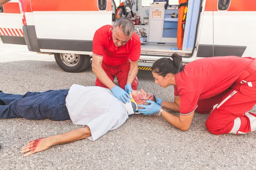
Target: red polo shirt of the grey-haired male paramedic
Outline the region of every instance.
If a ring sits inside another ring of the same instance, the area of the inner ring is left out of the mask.
[[[95,32],[93,54],[103,57],[103,62],[106,65],[114,67],[122,65],[128,59],[131,62],[137,62],[140,59],[140,37],[134,32],[131,39],[118,48],[113,43],[111,28],[111,25],[106,25]]]

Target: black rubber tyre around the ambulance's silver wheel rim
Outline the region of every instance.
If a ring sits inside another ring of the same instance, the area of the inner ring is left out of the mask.
[[[81,55],[80,54],[80,57],[81,58],[79,59],[79,62],[77,63],[77,65],[70,67],[70,66],[65,65],[61,61],[61,57],[60,57],[59,53],[54,53],[54,58],[58,64],[58,66],[62,70],[70,72],[70,73],[78,73],[78,72],[84,71],[90,65],[91,57],[89,55]]]

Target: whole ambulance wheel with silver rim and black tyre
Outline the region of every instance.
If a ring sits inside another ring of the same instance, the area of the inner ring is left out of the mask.
[[[54,53],[58,66],[67,72],[78,73],[90,65],[91,57],[82,54]]]

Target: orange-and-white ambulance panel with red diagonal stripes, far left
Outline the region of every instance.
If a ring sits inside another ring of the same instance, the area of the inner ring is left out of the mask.
[[[6,44],[26,45],[18,0],[0,6],[0,38]]]

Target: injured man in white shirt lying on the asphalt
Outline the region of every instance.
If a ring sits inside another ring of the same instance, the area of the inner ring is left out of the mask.
[[[85,125],[67,133],[35,139],[21,149],[24,156],[80,139],[95,141],[109,130],[120,127],[129,115],[136,114],[137,105],[156,101],[154,95],[132,91],[130,102],[124,104],[108,88],[72,85],[66,90],[27,92],[25,95],[5,94],[0,91],[0,119],[25,118],[29,120],[71,119],[74,125]]]

